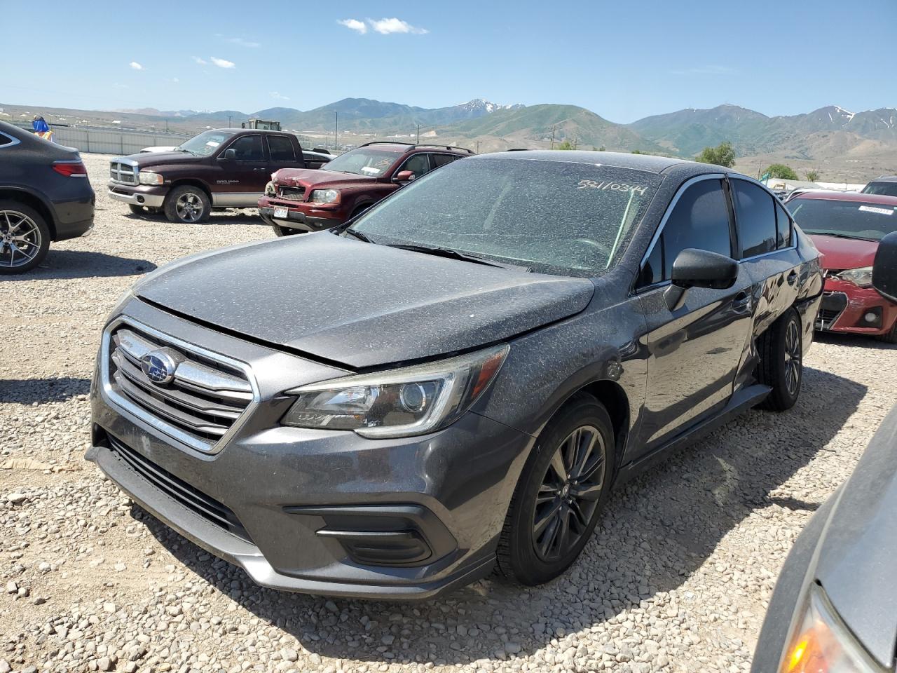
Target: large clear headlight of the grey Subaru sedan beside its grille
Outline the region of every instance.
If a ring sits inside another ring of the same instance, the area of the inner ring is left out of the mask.
[[[436,363],[348,376],[288,390],[297,396],[284,425],[353,430],[363,437],[410,437],[457,420],[489,387],[510,347],[499,345]]]

